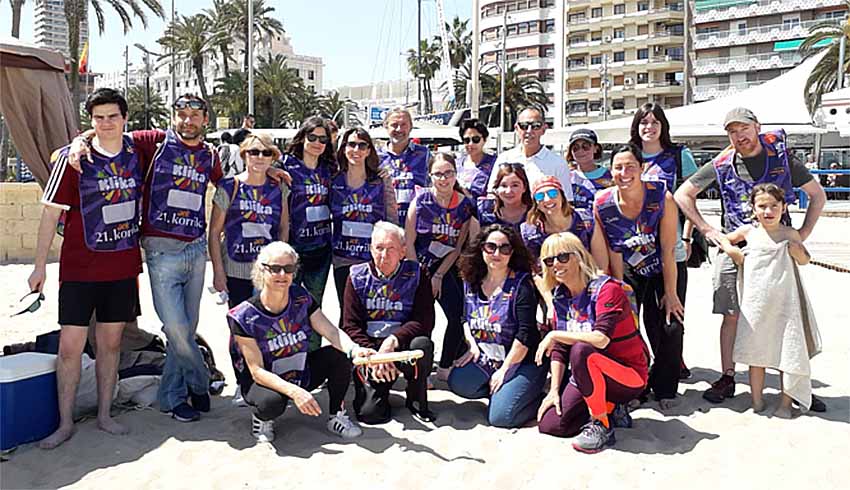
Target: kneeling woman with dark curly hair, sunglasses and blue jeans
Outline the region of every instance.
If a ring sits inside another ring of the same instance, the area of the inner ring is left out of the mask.
[[[488,420],[520,427],[534,418],[546,368],[533,362],[540,341],[531,283],[531,257],[513,228],[490,225],[464,251],[469,350],[455,361],[449,389],[464,398],[490,398]]]

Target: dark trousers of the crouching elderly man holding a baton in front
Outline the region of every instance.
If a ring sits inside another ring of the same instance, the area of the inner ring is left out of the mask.
[[[434,363],[434,342],[428,337],[416,337],[409,347],[400,346],[398,350],[422,350],[425,355],[420,357],[415,366],[397,362],[395,366],[407,380],[407,404],[418,402],[419,411],[428,411],[428,373]],[[397,381],[397,380],[396,380]],[[357,420],[364,424],[382,424],[392,416],[390,409],[390,389],[393,382],[379,382],[366,379],[365,383],[357,373],[354,373],[354,413]]]

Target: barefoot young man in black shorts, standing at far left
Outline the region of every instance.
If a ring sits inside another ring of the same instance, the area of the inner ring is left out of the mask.
[[[65,240],[59,256],[59,355],[56,360],[59,428],[41,441],[52,449],[71,437],[74,398],[80,381],[80,357],[92,314],[97,335],[97,424],[112,434],[127,429],[110,417],[121,333],[136,319],[139,251],[139,207],[144,168],[132,140],[122,129],[127,102],[120,92],[98,89],[86,100],[95,136],[81,173],[68,170],[68,149],[56,150],[44,189],[44,211],[38,231],[31,291],[41,291],[56,225],[65,212]]]

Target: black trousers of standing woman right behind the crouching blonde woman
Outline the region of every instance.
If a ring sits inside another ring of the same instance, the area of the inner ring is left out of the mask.
[[[681,279],[683,274],[687,275],[687,267],[684,262],[679,262],[676,269],[676,294],[684,305],[687,279]],[[631,267],[627,267],[625,279],[635,291],[638,308],[643,313],[643,327],[655,356],[649,371],[649,387],[657,400],[676,398],[682,367],[684,326],[675,317],[670,318],[670,323],[665,318],[661,303],[664,297],[664,275],[639,276]]]

